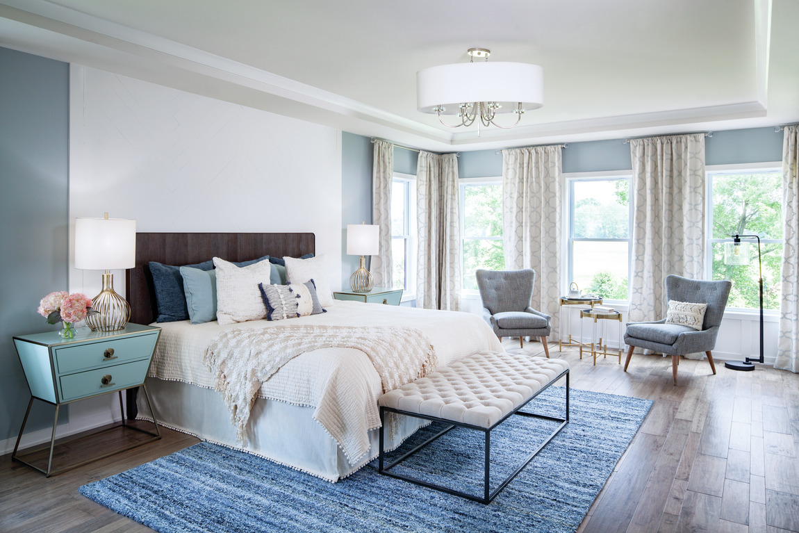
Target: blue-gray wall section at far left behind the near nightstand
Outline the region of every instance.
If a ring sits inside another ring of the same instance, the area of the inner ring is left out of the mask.
[[[70,70],[0,48],[0,73],[0,440],[6,440],[17,436],[30,400],[11,337],[54,329],[36,308],[48,292],[67,288]],[[35,402],[26,432],[49,427],[53,412]]]

